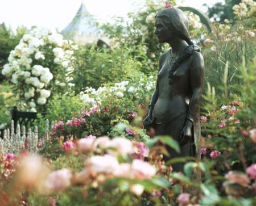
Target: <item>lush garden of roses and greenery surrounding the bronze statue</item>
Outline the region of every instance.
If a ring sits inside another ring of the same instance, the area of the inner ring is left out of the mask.
[[[170,157],[179,142],[143,127],[168,49],[155,15],[172,6],[147,0],[98,24],[110,47],[0,27],[0,205],[256,205],[256,2],[212,22],[180,7],[205,62],[200,159]],[[14,124],[14,106],[37,119]]]

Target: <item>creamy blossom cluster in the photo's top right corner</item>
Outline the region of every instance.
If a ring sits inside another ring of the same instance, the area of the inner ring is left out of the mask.
[[[240,16],[250,16],[256,10],[256,2],[253,0],[242,0],[238,5],[233,6],[234,14]]]

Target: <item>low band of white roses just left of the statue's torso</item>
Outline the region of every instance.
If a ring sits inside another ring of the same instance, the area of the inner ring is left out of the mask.
[[[87,87],[85,91],[81,91],[80,98],[84,102],[85,106],[94,103],[100,103],[106,98],[133,98],[144,99],[146,93],[152,92],[155,87],[155,79],[153,76],[139,78],[139,81],[122,81],[114,83],[113,86],[102,86],[98,89]]]

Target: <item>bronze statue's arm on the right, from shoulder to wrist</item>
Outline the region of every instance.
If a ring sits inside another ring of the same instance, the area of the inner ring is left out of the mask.
[[[198,121],[200,116],[200,99],[204,84],[204,58],[199,53],[193,53],[189,68],[192,97],[189,102],[187,119]]]

